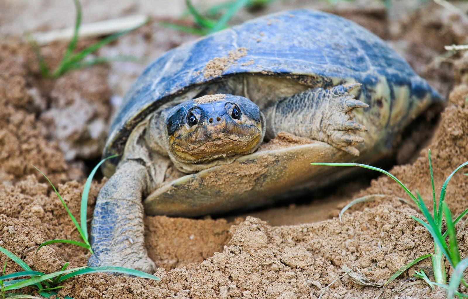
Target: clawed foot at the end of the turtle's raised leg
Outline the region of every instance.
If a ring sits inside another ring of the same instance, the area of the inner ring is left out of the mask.
[[[354,120],[352,110],[369,107],[366,103],[354,99],[349,92],[360,87],[360,84],[338,85],[329,91],[329,101],[323,111],[321,137],[336,148],[342,149],[353,156],[359,156],[356,145],[364,142],[357,132],[367,131],[364,125]],[[321,139],[322,139],[321,138]]]

